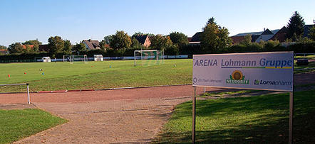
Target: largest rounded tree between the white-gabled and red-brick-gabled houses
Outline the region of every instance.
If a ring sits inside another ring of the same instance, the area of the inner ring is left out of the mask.
[[[125,48],[130,48],[131,38],[124,31],[117,31],[115,35],[112,35],[110,40],[110,48],[115,50],[123,50]]]

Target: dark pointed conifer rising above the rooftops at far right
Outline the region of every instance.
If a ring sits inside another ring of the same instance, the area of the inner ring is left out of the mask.
[[[293,16],[289,19],[289,23],[286,26],[288,29],[288,33],[286,33],[287,38],[291,38],[292,40],[296,41],[304,32],[304,18],[295,11]],[[295,34],[294,34],[295,33]]]

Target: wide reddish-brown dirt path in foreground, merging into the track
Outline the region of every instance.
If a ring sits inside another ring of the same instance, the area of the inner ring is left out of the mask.
[[[38,108],[69,122],[16,143],[149,143],[174,106],[192,99],[192,94],[192,86],[32,94]],[[20,96],[25,94],[1,99],[16,103]]]

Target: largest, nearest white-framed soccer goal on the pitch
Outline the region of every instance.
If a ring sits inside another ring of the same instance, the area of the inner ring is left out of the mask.
[[[135,50],[135,66],[160,65],[164,63],[164,52],[160,50]]]

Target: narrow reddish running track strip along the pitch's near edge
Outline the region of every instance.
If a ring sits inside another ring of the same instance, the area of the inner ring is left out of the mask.
[[[68,92],[68,93],[32,93],[31,102],[63,103],[63,102],[87,102],[87,101],[108,101],[120,99],[150,99],[167,98],[176,96],[192,96],[194,94],[191,85],[150,87],[139,89],[113,89],[91,92]],[[207,88],[209,90],[222,90]],[[203,87],[197,87],[197,93],[202,94]],[[21,104],[27,103],[26,94],[0,94],[0,104]]]

